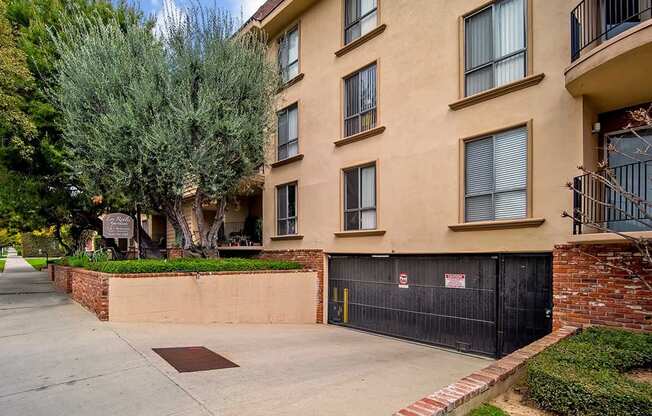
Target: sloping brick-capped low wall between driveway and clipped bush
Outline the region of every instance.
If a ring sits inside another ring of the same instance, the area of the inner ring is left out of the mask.
[[[577,333],[564,327],[515,351],[396,412],[394,416],[465,415],[509,389],[525,373],[527,361],[546,348]]]

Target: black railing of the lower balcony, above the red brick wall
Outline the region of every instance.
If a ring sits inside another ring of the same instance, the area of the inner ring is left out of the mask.
[[[652,161],[608,169],[573,180],[573,234],[652,230]]]

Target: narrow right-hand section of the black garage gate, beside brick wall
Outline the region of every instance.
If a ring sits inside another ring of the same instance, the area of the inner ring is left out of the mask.
[[[510,254],[500,263],[498,343],[506,355],[552,330],[552,257]]]

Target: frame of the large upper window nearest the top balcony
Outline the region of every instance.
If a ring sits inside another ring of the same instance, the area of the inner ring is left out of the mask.
[[[506,1],[506,0],[495,0],[494,2],[487,5],[486,7],[483,7],[480,10],[476,10],[475,12],[464,16],[464,97],[470,97],[470,95],[468,93],[468,85],[467,85],[467,82],[466,82],[467,77],[470,74],[473,74],[475,72],[479,72],[479,71],[482,71],[484,69],[487,69],[487,68],[491,67],[491,74],[492,74],[491,87],[489,87],[489,88],[487,88],[486,90],[483,90],[483,91],[475,92],[472,95],[481,94],[484,91],[488,91],[488,90],[490,90],[492,88],[496,88],[496,82],[495,82],[496,81],[495,80],[496,65],[501,63],[501,62],[507,61],[507,60],[517,56],[517,55],[521,55],[521,54],[523,55],[523,77],[526,77],[527,74],[528,74],[528,67],[529,67],[529,65],[528,65],[528,54],[529,54],[529,46],[530,46],[529,45],[529,36],[528,36],[528,27],[530,25],[529,16],[528,16],[528,13],[529,13],[529,11],[528,11],[529,0],[523,0],[523,22],[524,22],[524,25],[523,25],[523,40],[524,40],[524,42],[523,42],[523,44],[525,46],[522,49],[519,49],[518,51],[511,52],[511,53],[509,53],[507,55],[501,56],[500,58],[496,58],[496,56],[495,56],[494,39],[495,39],[495,31],[496,31],[496,27],[497,27],[497,22],[496,22],[496,13],[495,13],[494,9],[496,7],[496,4],[501,3],[503,1]],[[467,47],[468,47],[469,42],[468,42],[468,38],[467,38],[467,33],[468,32],[466,30],[466,27],[467,27],[466,25],[467,25],[467,22],[468,22],[468,20],[470,18],[472,18],[474,16],[477,16],[480,13],[486,12],[489,9],[491,9],[491,20],[492,20],[491,36],[490,36],[491,48],[492,48],[492,59],[491,59],[490,62],[481,64],[481,65],[478,65],[478,66],[476,66],[474,68],[469,69],[468,68],[468,59],[467,59]]]

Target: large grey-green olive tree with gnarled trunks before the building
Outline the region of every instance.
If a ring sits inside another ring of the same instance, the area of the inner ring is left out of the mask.
[[[165,213],[183,248],[216,253],[227,199],[263,165],[278,87],[265,39],[193,8],[153,32],[88,19],[56,33],[52,93],[88,189]],[[193,190],[193,238],[184,197]],[[202,207],[218,207],[206,221]]]

